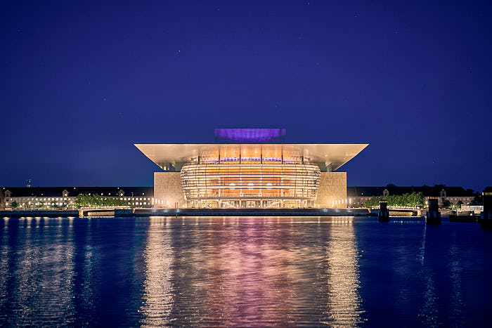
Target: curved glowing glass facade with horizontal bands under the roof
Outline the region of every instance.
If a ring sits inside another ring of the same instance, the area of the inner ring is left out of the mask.
[[[188,201],[313,201],[319,179],[320,169],[311,164],[190,164],[181,169],[181,181]]]

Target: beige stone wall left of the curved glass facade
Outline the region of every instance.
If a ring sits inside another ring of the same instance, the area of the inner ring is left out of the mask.
[[[154,199],[164,201],[164,204],[154,203],[154,207],[174,209],[176,202],[179,203],[179,207],[186,206],[179,174],[179,172],[154,172]]]

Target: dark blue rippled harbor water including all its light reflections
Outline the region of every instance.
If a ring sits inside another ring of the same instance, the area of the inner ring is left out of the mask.
[[[0,326],[486,327],[492,232],[422,218],[0,218]]]

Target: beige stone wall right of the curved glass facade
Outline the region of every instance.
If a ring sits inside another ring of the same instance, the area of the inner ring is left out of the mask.
[[[332,205],[338,199],[347,199],[347,172],[321,172],[315,206],[347,207],[347,203]]]

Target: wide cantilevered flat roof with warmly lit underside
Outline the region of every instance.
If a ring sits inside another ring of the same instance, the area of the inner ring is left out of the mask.
[[[301,156],[309,157],[311,162],[331,164],[332,170],[336,170],[349,162],[368,145],[368,143],[136,143],[135,147],[161,168],[169,164],[174,166],[176,163],[189,162],[193,157],[210,155],[214,152],[219,153],[219,150],[224,152],[235,148],[242,152],[242,150],[250,150],[251,147],[258,149],[263,147],[263,149],[274,152],[295,152]]]

